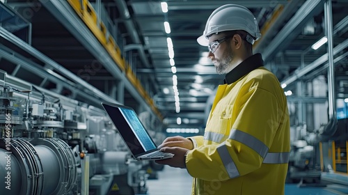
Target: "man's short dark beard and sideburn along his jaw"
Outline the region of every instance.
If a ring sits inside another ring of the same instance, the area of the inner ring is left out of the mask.
[[[231,64],[235,54],[233,54],[232,48],[230,45],[226,47],[226,50],[223,52],[221,59],[215,59],[216,64],[216,73],[219,75],[226,75],[232,70]]]

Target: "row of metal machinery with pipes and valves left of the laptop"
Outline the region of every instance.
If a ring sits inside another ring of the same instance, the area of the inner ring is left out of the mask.
[[[104,110],[0,78],[0,194],[146,194]]]

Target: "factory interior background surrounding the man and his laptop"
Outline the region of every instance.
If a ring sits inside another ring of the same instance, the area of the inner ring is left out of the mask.
[[[0,0],[0,194],[191,193],[156,192],[189,176],[132,159],[100,103],[132,107],[157,145],[202,135],[224,77],[196,39],[227,3],[255,15],[287,95],[285,194],[348,194],[347,0]]]

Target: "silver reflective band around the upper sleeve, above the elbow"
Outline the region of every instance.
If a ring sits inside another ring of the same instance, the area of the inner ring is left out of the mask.
[[[249,148],[255,150],[255,152],[258,153],[262,158],[267,155],[269,149],[264,143],[262,143],[262,141],[256,139],[251,134],[247,134],[246,132],[239,130],[231,130],[228,139],[233,139],[243,143]]]

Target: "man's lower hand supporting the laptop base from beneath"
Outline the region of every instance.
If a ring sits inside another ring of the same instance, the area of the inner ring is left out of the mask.
[[[164,147],[161,148],[161,151],[164,153],[172,153],[174,156],[170,159],[161,159],[156,160],[158,164],[168,164],[169,166],[185,168],[184,155],[189,151],[186,148],[180,147]]]

